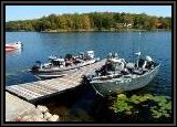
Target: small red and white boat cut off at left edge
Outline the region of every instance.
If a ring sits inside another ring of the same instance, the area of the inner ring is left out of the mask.
[[[23,46],[23,44],[20,41],[14,42],[14,43],[8,43],[8,44],[6,44],[6,51],[21,49],[22,46]]]

